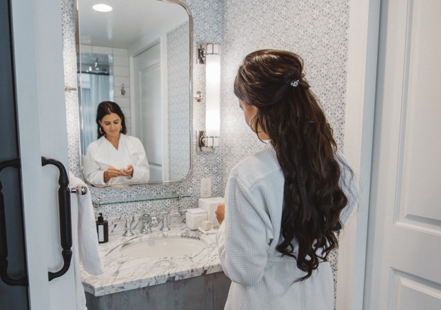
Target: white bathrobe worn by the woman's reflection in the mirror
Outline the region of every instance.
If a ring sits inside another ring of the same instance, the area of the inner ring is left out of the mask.
[[[90,143],[84,158],[84,172],[91,183],[104,185],[104,172],[109,167],[127,169],[133,166],[133,176],[110,178],[107,184],[140,183],[150,178],[150,167],[141,140],[134,136],[120,134],[116,149],[105,136]]]

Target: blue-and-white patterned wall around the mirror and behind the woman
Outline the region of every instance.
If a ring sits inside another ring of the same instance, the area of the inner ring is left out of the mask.
[[[67,7],[72,0],[63,0]],[[180,190],[192,194],[179,203],[165,201],[140,203],[134,206],[116,205],[103,210],[107,216],[128,216],[143,209],[163,207],[185,209],[195,207],[200,193],[201,178],[212,178],[213,196],[222,196],[230,169],[241,159],[263,147],[249,130],[238,101],[232,92],[234,76],[243,57],[254,50],[274,48],[296,52],[305,61],[306,79],[318,96],[334,129],[339,147],[343,147],[345,120],[345,90],[347,77],[348,0],[185,0],[194,18],[194,47],[197,42],[221,44],[221,131],[220,147],[214,153],[200,154],[193,145],[193,174],[179,185],[134,187],[132,189],[93,189],[94,195],[157,194]],[[72,21],[70,21],[72,23]],[[74,28],[71,25],[70,31]],[[70,33],[73,37],[73,34]],[[65,34],[66,36],[66,34]],[[72,46],[72,43],[67,45]],[[74,64],[74,62],[72,62]],[[203,65],[194,62],[194,91],[205,89]],[[70,167],[79,174],[77,146],[78,123],[76,98],[67,98]],[[204,104],[194,102],[194,132],[204,128]],[[334,274],[337,253],[332,254]]]

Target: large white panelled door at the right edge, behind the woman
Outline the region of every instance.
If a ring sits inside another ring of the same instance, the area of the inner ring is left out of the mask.
[[[441,1],[382,1],[364,309],[441,309]]]

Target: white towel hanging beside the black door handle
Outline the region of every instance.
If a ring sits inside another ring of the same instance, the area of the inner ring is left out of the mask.
[[[87,186],[80,178],[69,172],[70,186]],[[85,305],[85,293],[81,283],[80,264],[85,271],[93,275],[103,273],[103,262],[99,256],[98,237],[94,209],[90,192],[85,195],[71,194],[72,213],[72,252],[74,256],[74,276],[76,290],[76,310],[88,309]]]

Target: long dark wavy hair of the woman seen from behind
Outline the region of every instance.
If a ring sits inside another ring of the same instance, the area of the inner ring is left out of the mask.
[[[340,212],[348,203],[331,126],[302,70],[297,54],[258,50],[245,57],[234,81],[238,99],[258,108],[253,130],[260,125],[269,136],[285,177],[277,250],[307,273],[296,281],[309,278],[338,247]]]

